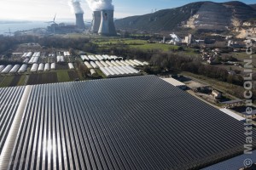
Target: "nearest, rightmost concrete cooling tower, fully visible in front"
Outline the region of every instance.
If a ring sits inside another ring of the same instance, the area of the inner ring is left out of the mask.
[[[116,36],[113,24],[113,10],[102,10],[101,24],[98,33],[102,36]]]

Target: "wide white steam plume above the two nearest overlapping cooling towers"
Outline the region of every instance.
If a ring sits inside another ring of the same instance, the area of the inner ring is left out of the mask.
[[[86,0],[92,11],[113,10],[112,0]]]

